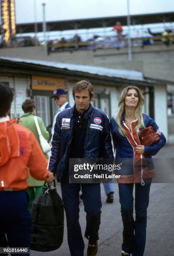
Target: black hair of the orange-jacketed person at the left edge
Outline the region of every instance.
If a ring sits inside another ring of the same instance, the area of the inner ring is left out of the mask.
[[[8,85],[0,82],[0,117],[6,116],[13,101],[13,92]]]

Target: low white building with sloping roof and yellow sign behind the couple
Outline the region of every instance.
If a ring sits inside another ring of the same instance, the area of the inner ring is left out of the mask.
[[[72,87],[82,79],[88,79],[94,85],[96,96],[92,104],[104,110],[110,118],[117,113],[123,85],[138,86],[145,97],[143,113],[154,118],[168,138],[167,89],[164,81],[146,80],[142,72],[133,70],[0,57],[0,82],[9,85],[14,92],[11,116],[20,117],[23,114],[23,101],[31,97],[36,101],[36,114],[44,120],[46,127],[51,127],[57,111],[51,99],[53,91],[58,87],[64,88],[73,106]]]

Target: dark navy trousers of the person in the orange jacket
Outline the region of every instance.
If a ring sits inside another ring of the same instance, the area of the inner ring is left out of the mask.
[[[26,192],[0,191],[0,247],[30,247],[31,225]]]

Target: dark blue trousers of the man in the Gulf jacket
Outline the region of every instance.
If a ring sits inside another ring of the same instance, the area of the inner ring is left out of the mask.
[[[68,245],[71,256],[84,255],[84,241],[79,224],[79,191],[82,187],[86,230],[84,236],[96,241],[99,239],[101,215],[100,184],[69,184],[61,182],[61,192],[67,217]]]

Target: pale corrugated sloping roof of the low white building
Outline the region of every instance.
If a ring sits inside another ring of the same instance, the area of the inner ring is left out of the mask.
[[[4,57],[0,56],[2,60],[8,60],[18,63],[26,63],[26,64],[35,64],[41,65],[44,67],[54,67],[58,69],[67,69],[71,71],[79,71],[89,74],[96,74],[106,77],[116,77],[116,78],[123,78],[135,81],[147,81],[143,77],[143,73],[136,70],[127,70],[127,69],[113,69],[107,67],[96,67],[90,65],[79,65],[79,64],[69,64],[69,63],[61,63],[55,61],[44,61],[44,60],[36,60],[36,59],[23,59],[23,58],[11,58],[11,57]]]

